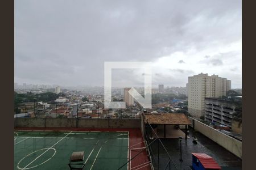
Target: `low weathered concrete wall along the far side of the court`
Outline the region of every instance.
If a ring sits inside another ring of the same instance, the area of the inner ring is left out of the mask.
[[[15,127],[76,128],[76,118],[15,118]],[[141,128],[141,119],[80,118],[78,128]]]

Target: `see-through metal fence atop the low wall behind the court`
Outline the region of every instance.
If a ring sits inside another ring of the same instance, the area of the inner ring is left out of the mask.
[[[14,109],[14,117],[39,118],[140,118],[138,114],[125,112],[125,109],[104,109],[99,106],[81,104],[24,104]]]

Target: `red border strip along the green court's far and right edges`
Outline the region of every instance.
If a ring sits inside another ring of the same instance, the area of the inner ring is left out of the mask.
[[[15,128],[15,130],[28,130],[28,131],[129,131],[129,159],[133,158],[140,151],[143,150],[145,144],[143,142],[143,137],[141,129],[133,128],[35,128],[35,127],[23,127]],[[127,165],[126,165],[127,166]],[[147,151],[143,150],[129,163],[129,169],[141,169],[147,170],[150,168],[150,159],[147,156]]]

